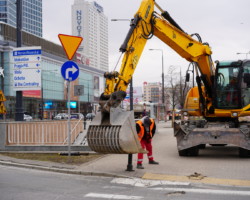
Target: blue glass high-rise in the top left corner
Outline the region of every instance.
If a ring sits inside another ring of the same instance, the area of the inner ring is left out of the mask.
[[[23,30],[42,37],[42,0],[22,1]],[[16,0],[0,0],[0,21],[16,27]]]

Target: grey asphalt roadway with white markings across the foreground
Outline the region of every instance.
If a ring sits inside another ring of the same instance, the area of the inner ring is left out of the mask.
[[[249,188],[88,177],[0,166],[0,200],[249,200]]]

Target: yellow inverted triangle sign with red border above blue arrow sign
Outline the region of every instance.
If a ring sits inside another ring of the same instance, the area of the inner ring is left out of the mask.
[[[64,35],[64,34],[59,34],[58,37],[60,39],[60,42],[64,48],[64,51],[68,59],[71,60],[75,55],[76,50],[80,46],[83,38],[72,35]]]

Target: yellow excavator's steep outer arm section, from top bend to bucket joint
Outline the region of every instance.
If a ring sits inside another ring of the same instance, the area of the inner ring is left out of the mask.
[[[110,107],[117,107],[126,96],[126,89],[139,62],[147,40],[152,37],[151,16],[154,1],[142,1],[141,6],[131,20],[129,32],[120,51],[124,53],[119,72],[106,72],[106,88],[100,97],[102,111],[109,112]],[[107,101],[108,100],[108,101]]]

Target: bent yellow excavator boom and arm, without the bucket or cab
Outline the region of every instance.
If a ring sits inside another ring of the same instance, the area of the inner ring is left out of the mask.
[[[155,6],[161,15],[155,12]],[[166,45],[176,51],[189,62],[194,62],[201,74],[208,96],[212,93],[212,78],[214,66],[210,55],[212,51],[207,44],[193,39],[164,11],[154,0],[143,0],[120,51],[124,53],[119,72],[107,72],[106,88],[100,98],[103,111],[109,112],[110,107],[117,107],[125,98],[125,91],[131,81],[133,73],[148,39],[156,36]],[[200,95],[201,95],[200,90]]]

